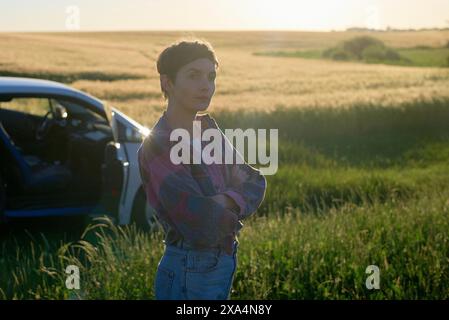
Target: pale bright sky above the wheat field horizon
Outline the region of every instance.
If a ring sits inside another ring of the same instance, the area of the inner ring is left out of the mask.
[[[0,32],[349,27],[449,27],[449,0],[0,0]]]

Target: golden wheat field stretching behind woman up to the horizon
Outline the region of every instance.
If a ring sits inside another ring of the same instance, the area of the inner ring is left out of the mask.
[[[449,69],[401,67],[288,57],[268,50],[324,49],[356,32],[102,32],[0,34],[0,73],[68,83],[151,126],[165,107],[158,53],[181,38],[209,41],[220,62],[210,111],[277,106],[392,106],[449,97]],[[438,47],[449,31],[371,34],[396,48]]]

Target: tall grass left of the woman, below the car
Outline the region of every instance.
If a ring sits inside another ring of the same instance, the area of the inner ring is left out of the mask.
[[[160,234],[136,226],[117,227],[96,219],[79,238],[57,242],[44,234],[19,246],[3,243],[0,298],[3,299],[148,299],[154,266],[162,255]],[[23,240],[22,240],[23,241]],[[80,290],[65,285],[67,266],[80,269]]]

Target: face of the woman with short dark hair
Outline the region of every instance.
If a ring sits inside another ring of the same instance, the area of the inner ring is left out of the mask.
[[[175,83],[168,88],[169,99],[178,107],[204,111],[215,92],[215,77],[215,64],[211,60],[194,60],[178,70]]]

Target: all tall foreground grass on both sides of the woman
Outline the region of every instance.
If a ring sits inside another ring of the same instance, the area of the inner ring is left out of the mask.
[[[447,299],[448,218],[447,192],[253,217],[239,237],[232,298]],[[161,240],[107,220],[53,250],[42,238],[3,256],[20,264],[12,280],[2,273],[2,298],[152,299]],[[80,290],[65,288],[68,265],[80,268]],[[380,290],[365,287],[369,265],[380,268]]]

